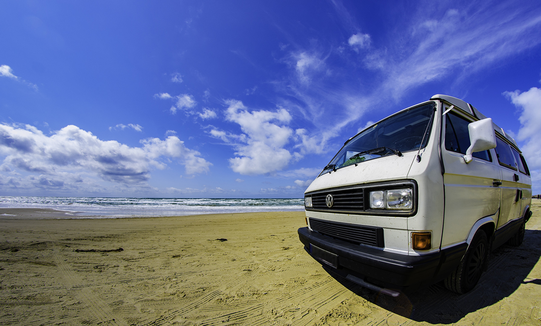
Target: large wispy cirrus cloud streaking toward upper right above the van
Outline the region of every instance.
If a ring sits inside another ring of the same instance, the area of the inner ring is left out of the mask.
[[[374,42],[344,5],[332,3],[349,36],[339,43],[293,47],[283,59],[290,75],[275,83],[286,94],[278,103],[312,124],[296,132],[304,152],[325,152],[344,127],[365,125],[366,112],[390,100],[398,103],[410,90],[450,76],[460,80],[541,43],[541,9],[533,4],[485,2],[448,9],[453,3],[427,2],[398,22],[406,28]]]

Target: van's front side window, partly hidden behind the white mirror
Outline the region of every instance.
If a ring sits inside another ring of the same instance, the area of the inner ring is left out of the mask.
[[[470,147],[470,132],[468,131],[470,123],[471,121],[454,113],[447,113],[445,119],[445,149],[447,151],[466,154],[466,150]],[[492,161],[489,151],[475,152],[473,157]]]

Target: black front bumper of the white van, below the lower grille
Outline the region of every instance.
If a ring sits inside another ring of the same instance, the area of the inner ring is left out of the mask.
[[[395,288],[417,288],[443,280],[456,269],[467,249],[467,243],[461,243],[434,254],[407,256],[333,239],[307,227],[298,232],[307,251],[312,244],[338,255],[338,274],[345,271],[368,282]]]

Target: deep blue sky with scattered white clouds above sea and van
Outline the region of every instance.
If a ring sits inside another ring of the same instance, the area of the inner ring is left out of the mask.
[[[443,93],[541,169],[535,1],[2,1],[0,194],[299,198]]]

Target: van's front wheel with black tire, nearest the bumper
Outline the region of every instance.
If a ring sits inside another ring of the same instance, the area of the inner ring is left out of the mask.
[[[478,230],[457,269],[444,280],[447,289],[463,294],[473,289],[489,259],[489,241],[483,230]]]

